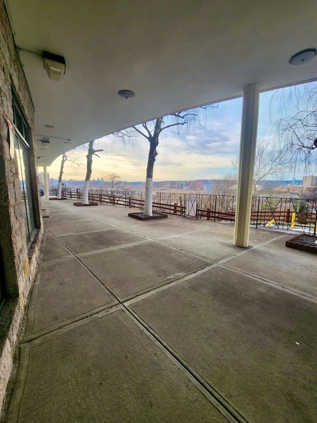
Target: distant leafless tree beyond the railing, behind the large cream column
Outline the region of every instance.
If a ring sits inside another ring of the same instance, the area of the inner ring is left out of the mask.
[[[239,158],[232,160],[233,168],[238,171]],[[267,184],[260,184],[267,179],[283,179],[285,172],[289,169],[288,157],[285,147],[279,146],[275,140],[259,138],[257,140],[254,175],[252,182],[252,195],[267,194]]]

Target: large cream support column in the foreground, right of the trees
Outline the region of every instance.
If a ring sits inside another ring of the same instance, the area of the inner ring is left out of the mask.
[[[259,96],[259,84],[249,84],[244,87],[237,207],[233,238],[234,245],[239,247],[247,247],[249,245],[252,182],[259,117]]]

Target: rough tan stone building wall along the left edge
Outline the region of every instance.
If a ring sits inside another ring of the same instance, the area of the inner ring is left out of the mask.
[[[26,244],[17,161],[9,155],[6,120],[13,122],[12,89],[31,128],[30,164],[38,230],[29,248]],[[0,408],[12,369],[25,304],[36,276],[43,238],[36,163],[33,103],[4,2],[0,0],[0,250],[6,284],[6,301],[0,315]]]

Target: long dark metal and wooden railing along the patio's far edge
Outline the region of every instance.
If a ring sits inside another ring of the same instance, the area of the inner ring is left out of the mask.
[[[64,187],[62,195],[80,200],[82,192],[79,188]],[[57,188],[50,189],[50,195],[57,195]],[[89,190],[90,201],[141,210],[144,208],[144,196],[144,191]],[[153,211],[214,222],[234,222],[236,196],[157,192],[153,194]],[[294,229],[315,235],[317,199],[253,197],[250,223],[256,228],[274,226],[278,229]]]

